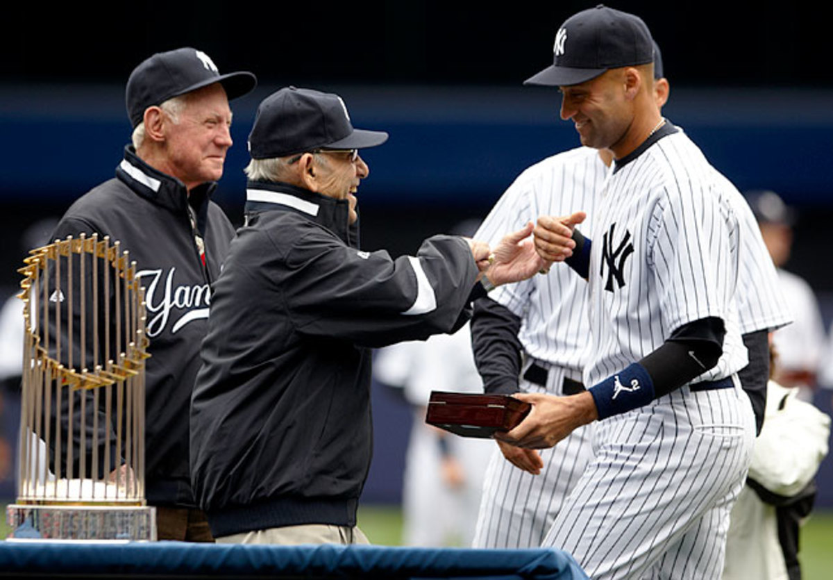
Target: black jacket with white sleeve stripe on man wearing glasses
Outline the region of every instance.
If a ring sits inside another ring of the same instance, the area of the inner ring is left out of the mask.
[[[247,195],[192,400],[197,503],[216,536],[354,525],[372,453],[371,348],[459,328],[476,264],[448,236],[416,257],[359,251],[346,200],[282,183]]]

